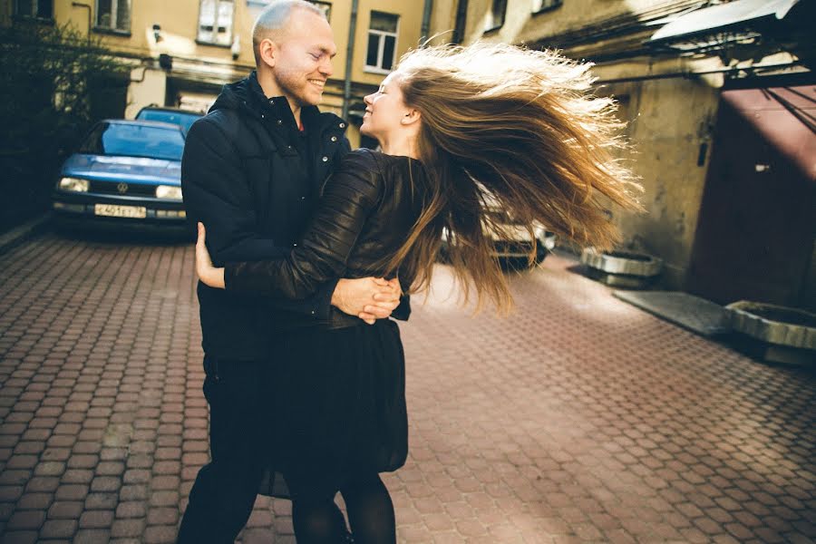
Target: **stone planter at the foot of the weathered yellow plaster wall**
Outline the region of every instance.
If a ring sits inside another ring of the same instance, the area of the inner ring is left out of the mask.
[[[663,260],[634,251],[598,251],[585,248],[581,263],[588,267],[588,276],[607,286],[640,289],[660,276]]]

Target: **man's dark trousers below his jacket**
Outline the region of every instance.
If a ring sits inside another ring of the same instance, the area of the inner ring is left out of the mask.
[[[270,362],[205,357],[209,449],[189,492],[179,544],[232,544],[255,504],[270,452]]]

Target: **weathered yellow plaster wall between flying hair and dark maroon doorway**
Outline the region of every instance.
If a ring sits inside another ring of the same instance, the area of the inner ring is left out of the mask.
[[[646,209],[613,216],[625,243],[665,260],[666,286],[681,287],[695,241],[719,90],[682,78],[617,83],[607,90],[623,102],[620,114],[629,123],[634,150],[629,160],[642,179]]]

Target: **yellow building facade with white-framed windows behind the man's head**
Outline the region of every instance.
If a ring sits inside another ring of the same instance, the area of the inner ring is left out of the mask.
[[[206,112],[225,83],[255,68],[252,25],[268,0],[5,0],[5,22],[19,17],[42,24],[71,24],[127,63],[122,114],[131,119],[150,104]],[[373,92],[400,55],[416,47],[423,5],[416,0],[329,0],[325,10],[335,31],[334,74],[325,87],[325,111],[356,125],[363,97]],[[2,21],[0,21],[2,22]],[[347,59],[351,62],[347,63]]]

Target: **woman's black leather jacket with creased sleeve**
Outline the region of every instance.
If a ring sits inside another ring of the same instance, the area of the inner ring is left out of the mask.
[[[424,181],[417,160],[365,149],[348,153],[326,180],[315,216],[289,256],[227,263],[227,289],[299,299],[332,277],[383,276],[378,263],[403,245],[422,211]],[[413,279],[400,277],[403,288]],[[333,308],[320,325],[362,323]]]

